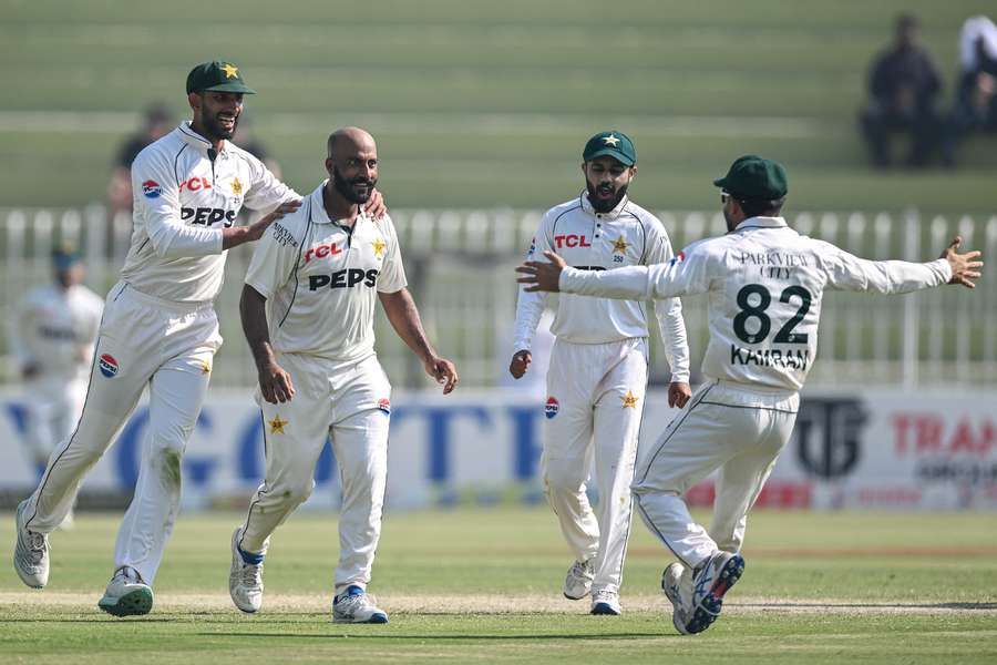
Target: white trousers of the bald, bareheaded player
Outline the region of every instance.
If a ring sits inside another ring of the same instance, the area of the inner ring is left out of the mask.
[[[264,401],[266,478],[249,502],[239,549],[266,554],[274,531],[311,494],[315,466],[331,438],[339,467],[342,504],[336,593],[370,582],[381,536],[388,480],[391,385],[376,356],[342,362],[302,354],[278,354],[295,397]]]

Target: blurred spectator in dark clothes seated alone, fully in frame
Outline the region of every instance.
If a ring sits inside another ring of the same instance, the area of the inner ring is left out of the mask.
[[[896,20],[894,44],[881,53],[870,71],[872,98],[860,114],[862,133],[872,153],[873,164],[892,164],[891,134],[911,134],[908,166],[924,166],[939,137],[941,123],[934,100],[942,79],[931,54],[921,45],[921,27],[911,14]]]

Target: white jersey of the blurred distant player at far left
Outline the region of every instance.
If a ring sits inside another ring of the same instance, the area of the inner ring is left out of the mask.
[[[21,366],[37,365],[41,379],[86,376],[104,300],[76,284],[50,284],[28,293],[12,326],[13,352]]]

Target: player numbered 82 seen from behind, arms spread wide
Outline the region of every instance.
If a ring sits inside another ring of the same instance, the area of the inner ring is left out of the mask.
[[[699,633],[720,613],[744,560],[748,511],[789,441],[799,390],[816,357],[824,291],[903,294],[942,284],[973,287],[978,252],[925,264],[873,262],[830,243],[801,236],[778,216],[788,192],[785,172],[754,155],[737,160],[723,188],[724,236],[693,243],[666,265],[593,273],[554,262],[530,262],[520,279],[534,290],[600,298],[666,298],[708,294],[710,341],[706,377],[688,407],[648,451],[634,481],[638,512],[679,563],[662,589],[681,633]],[[697,524],[685,492],[717,475],[713,522]]]

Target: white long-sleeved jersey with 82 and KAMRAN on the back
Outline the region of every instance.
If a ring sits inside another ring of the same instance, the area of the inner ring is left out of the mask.
[[[903,294],[950,278],[945,259],[866,260],[800,235],[782,217],[753,217],[727,235],[689,245],[666,265],[565,269],[559,287],[609,298],[709,294],[703,375],[796,391],[816,357],[825,289]]]

